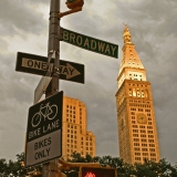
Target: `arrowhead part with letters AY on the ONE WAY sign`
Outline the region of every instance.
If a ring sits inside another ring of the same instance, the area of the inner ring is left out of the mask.
[[[66,80],[80,75],[81,73],[74,69],[70,63],[65,65],[60,65],[60,74],[66,75]]]

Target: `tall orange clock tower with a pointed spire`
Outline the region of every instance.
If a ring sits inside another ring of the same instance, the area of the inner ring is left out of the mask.
[[[150,82],[137,55],[127,25],[124,28],[123,56],[116,93],[119,157],[124,162],[143,164],[158,162],[159,147]]]

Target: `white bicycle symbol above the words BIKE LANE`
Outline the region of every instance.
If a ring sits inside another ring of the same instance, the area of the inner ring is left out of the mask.
[[[32,119],[31,119],[31,125],[32,127],[37,127],[40,125],[42,117],[44,121],[48,119],[53,119],[58,115],[58,106],[55,104],[50,105],[50,102],[46,103],[44,106],[43,104],[40,105],[40,111],[37,112]]]

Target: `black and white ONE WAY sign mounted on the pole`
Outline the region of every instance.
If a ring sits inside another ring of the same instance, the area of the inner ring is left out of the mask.
[[[48,58],[45,56],[18,52],[15,71],[44,75],[48,69],[49,71],[53,70],[54,60],[51,61],[50,65],[48,65],[46,62],[48,62]],[[84,83],[84,65],[83,64],[60,60],[59,70],[60,70],[61,80]]]

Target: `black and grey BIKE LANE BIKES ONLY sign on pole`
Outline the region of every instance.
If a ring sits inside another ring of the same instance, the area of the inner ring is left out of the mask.
[[[25,167],[62,156],[63,92],[29,108]]]

